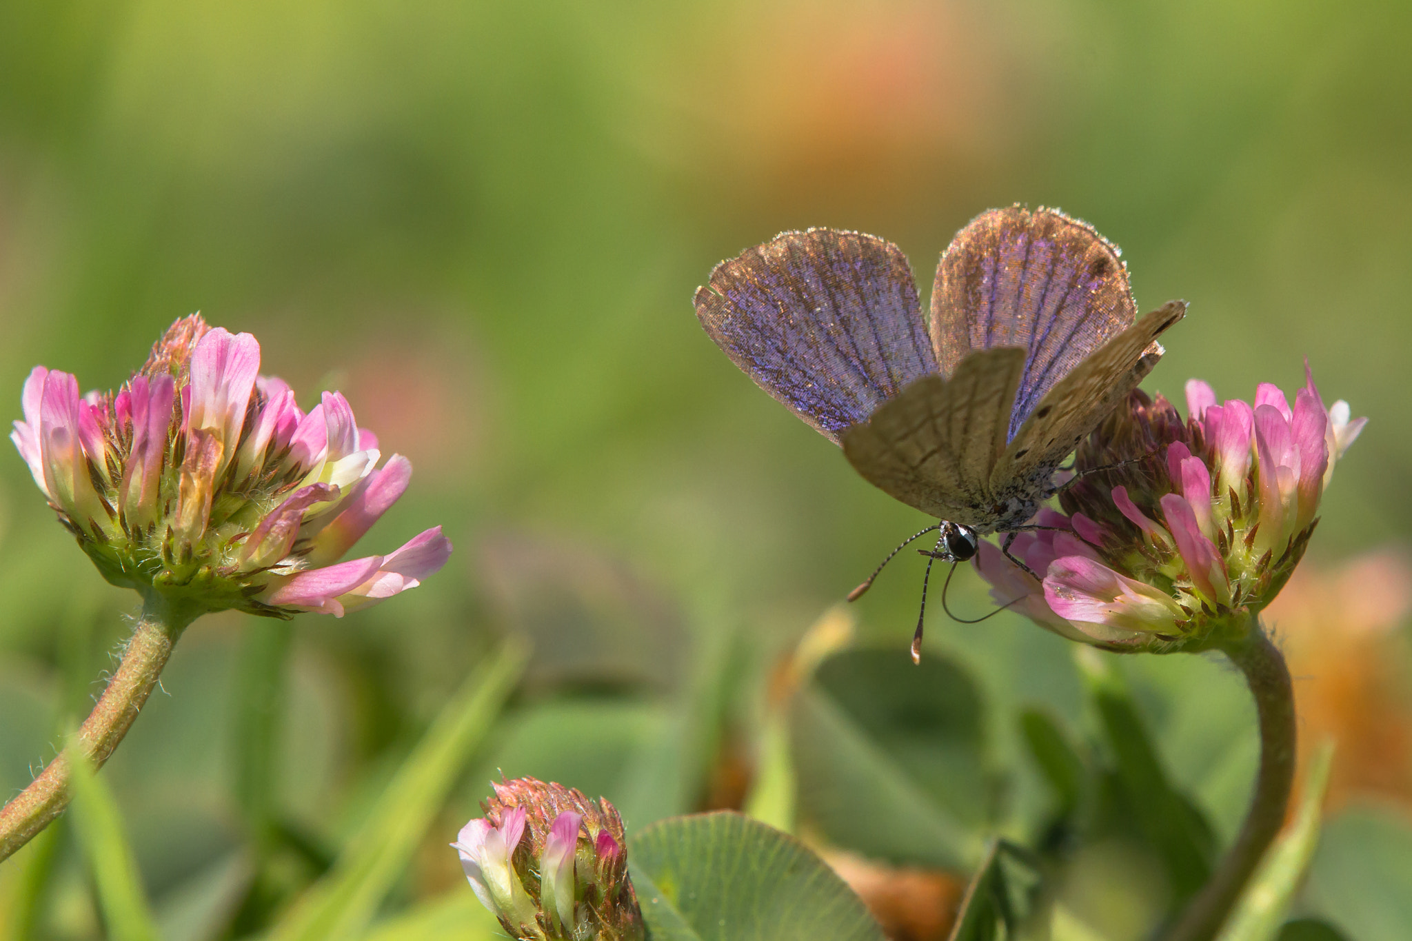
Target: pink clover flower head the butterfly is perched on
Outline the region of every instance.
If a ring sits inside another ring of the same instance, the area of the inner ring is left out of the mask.
[[[1367,419],[1324,408],[1306,364],[1293,406],[1261,384],[1254,405],[1186,385],[1187,419],[1132,392],[1079,446],[1079,480],[1011,552],[976,559],[993,597],[1045,628],[1113,650],[1200,649],[1257,614],[1299,564],[1334,463]]]

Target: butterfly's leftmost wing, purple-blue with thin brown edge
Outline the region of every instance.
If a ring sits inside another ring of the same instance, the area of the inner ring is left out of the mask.
[[[695,302],[716,346],[834,443],[936,372],[907,258],[874,236],[786,231],[716,265]]]

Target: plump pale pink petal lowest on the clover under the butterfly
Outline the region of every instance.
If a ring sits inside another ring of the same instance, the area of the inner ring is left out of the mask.
[[[1045,601],[1080,629],[1101,625],[1110,631],[1175,633],[1178,619],[1185,617],[1176,601],[1158,588],[1083,556],[1055,560],[1045,577]]]

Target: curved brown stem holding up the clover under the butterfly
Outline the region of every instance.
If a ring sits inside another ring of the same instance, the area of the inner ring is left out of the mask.
[[[1260,775],[1240,835],[1210,880],[1182,913],[1166,941],[1210,941],[1224,924],[1269,844],[1285,822],[1285,806],[1295,779],[1295,693],[1289,667],[1260,622],[1220,645],[1240,667],[1255,697],[1260,715]]]

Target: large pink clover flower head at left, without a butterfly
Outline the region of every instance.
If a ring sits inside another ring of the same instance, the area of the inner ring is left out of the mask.
[[[336,563],[411,478],[337,392],[309,412],[260,375],[249,333],[184,317],[117,392],[35,367],[11,440],[113,584],[193,612],[342,617],[415,587],[450,553],[441,528]]]

